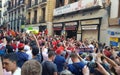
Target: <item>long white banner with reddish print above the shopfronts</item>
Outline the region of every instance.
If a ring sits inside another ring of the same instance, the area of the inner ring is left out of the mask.
[[[100,0],[80,0],[72,4],[67,4],[65,6],[54,9],[54,16],[70,13],[82,9],[87,9],[95,6],[102,6],[102,1]]]

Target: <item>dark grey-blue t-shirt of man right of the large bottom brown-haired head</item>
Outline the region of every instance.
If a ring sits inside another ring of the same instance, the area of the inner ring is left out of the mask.
[[[57,72],[57,66],[51,61],[45,61],[42,63],[43,71],[42,75],[54,75]]]

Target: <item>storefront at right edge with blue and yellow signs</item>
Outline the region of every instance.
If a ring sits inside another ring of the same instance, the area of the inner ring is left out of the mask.
[[[120,18],[109,19],[109,45],[120,48]]]

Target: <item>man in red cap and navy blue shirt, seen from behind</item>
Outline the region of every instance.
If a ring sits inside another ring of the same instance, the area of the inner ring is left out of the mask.
[[[18,67],[22,67],[22,65],[24,64],[25,61],[28,60],[28,55],[25,53],[24,51],[24,44],[23,43],[19,43],[18,44],[18,52],[17,52],[17,56],[18,56]]]

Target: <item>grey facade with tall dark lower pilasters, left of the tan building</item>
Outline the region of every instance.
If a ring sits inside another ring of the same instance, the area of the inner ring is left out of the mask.
[[[25,0],[9,0],[7,10],[9,28],[15,31],[23,31],[21,25],[24,25],[25,22]]]

